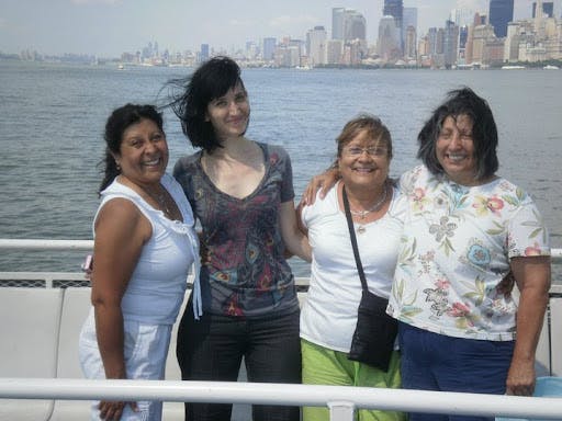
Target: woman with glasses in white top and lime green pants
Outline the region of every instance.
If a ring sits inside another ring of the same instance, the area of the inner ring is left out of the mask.
[[[400,194],[389,179],[392,140],[378,117],[348,122],[337,141],[340,180],[325,200],[301,209],[312,247],[311,282],[301,312],[303,383],[312,385],[401,386],[400,357],[390,350],[384,371],[351,361],[348,352],[358,319],[362,286],[344,198],[371,293],[389,298],[402,234]],[[306,407],[304,421],[329,420],[326,408]],[[359,410],[359,420],[404,420],[401,412]]]

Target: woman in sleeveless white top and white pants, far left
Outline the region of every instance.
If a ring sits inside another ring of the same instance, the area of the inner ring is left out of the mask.
[[[101,204],[93,221],[92,308],[79,354],[88,378],[162,379],[171,329],[199,242],[153,105],[126,104],[105,125]],[[158,421],[161,401],[94,401],[92,420]]]

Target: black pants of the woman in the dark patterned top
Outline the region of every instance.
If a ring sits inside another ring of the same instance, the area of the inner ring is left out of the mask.
[[[203,315],[191,300],[178,330],[176,354],[184,380],[236,382],[246,363],[248,382],[301,383],[299,311],[246,319]],[[231,403],[186,403],[186,420],[229,421]],[[254,421],[299,421],[299,407],[252,406]]]

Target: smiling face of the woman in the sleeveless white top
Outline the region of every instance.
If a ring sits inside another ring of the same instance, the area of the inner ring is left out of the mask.
[[[159,183],[168,166],[168,144],[158,125],[148,118],[128,126],[115,156],[121,173],[137,185]]]

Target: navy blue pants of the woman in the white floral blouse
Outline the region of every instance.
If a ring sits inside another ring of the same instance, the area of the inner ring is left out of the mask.
[[[515,341],[452,338],[398,322],[402,387],[505,394]],[[409,421],[493,421],[494,418],[411,413]]]

